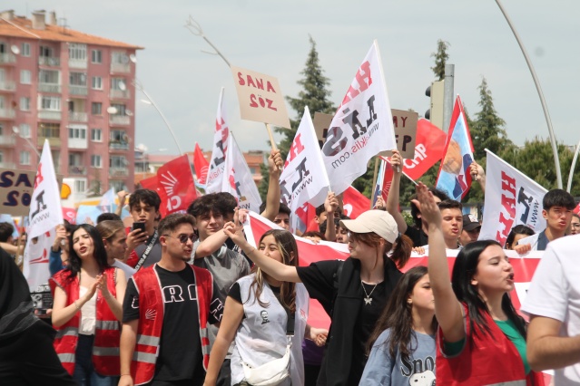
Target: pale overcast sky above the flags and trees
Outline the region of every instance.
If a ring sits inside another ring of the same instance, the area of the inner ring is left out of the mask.
[[[556,140],[580,140],[580,2],[503,0],[543,89]],[[211,150],[221,87],[227,121],[241,150],[268,150],[263,123],[241,121],[230,69],[211,47],[184,27],[192,18],[232,65],[275,76],[285,95],[296,97],[297,81],[317,44],[330,81],[331,101],[342,100],[374,39],[378,40],[391,108],[428,110],[425,95],[434,74],[437,40],[450,43],[455,93],[473,118],[477,87],[487,79],[498,115],[517,145],[548,138],[546,118],[526,61],[495,1],[471,0],[72,0],[16,2],[16,14],[55,11],[69,28],[144,47],[137,78],[172,126],[182,150],[199,142]],[[7,6],[5,5],[7,8]],[[137,96],[136,138],[152,154],[178,154],[160,115]],[[288,106],[291,119],[298,119]],[[280,135],[275,134],[280,140]]]

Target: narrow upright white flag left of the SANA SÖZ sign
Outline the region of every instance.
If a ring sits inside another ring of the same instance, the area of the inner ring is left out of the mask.
[[[213,150],[211,150],[210,170],[205,183],[206,193],[221,191],[223,170],[226,153],[228,151],[228,136],[230,130],[226,123],[225,104],[223,102],[223,87],[221,87],[220,101],[218,102],[218,115],[215,121],[215,133],[213,134]]]

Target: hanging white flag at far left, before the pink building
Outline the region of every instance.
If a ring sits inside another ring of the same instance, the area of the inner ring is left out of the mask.
[[[54,228],[63,224],[60,191],[48,140],[44,140],[43,154],[36,171],[28,218],[23,272],[30,290],[34,291],[50,277],[48,254],[56,236]]]

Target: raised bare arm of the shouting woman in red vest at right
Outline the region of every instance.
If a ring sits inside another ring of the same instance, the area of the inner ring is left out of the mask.
[[[461,304],[451,287],[445,239],[441,230],[441,212],[433,193],[423,183],[419,183],[417,195],[421,204],[421,216],[429,224],[428,272],[435,297],[435,315],[446,342],[455,343],[465,338],[466,332]]]

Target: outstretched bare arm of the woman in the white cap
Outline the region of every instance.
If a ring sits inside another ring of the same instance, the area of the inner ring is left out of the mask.
[[[261,253],[260,249],[254,248],[250,243],[248,243],[241,232],[243,227],[240,225],[240,220],[243,221],[244,217],[245,212],[243,209],[236,209],[233,225],[231,223],[227,224],[226,227],[223,228],[224,232],[237,246],[240,246],[243,253],[250,257],[251,261],[258,265],[266,274],[272,276],[276,280],[301,283],[300,276],[298,275],[295,266],[283,265],[282,263],[265,256]]]

